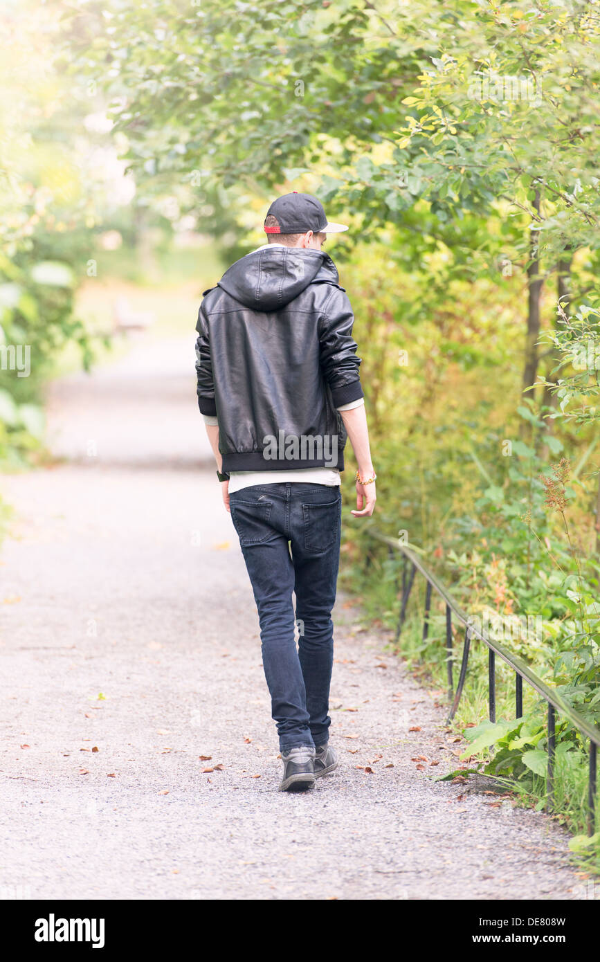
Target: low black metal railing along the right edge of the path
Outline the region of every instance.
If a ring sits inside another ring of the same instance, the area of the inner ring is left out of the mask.
[[[468,666],[468,656],[470,651],[471,638],[475,637],[482,641],[488,648],[488,690],[489,690],[489,721],[496,721],[496,655],[507,663],[514,671],[514,700],[515,717],[521,718],[523,715],[523,681],[525,680],[538,695],[540,695],[548,705],[548,771],[546,775],[546,794],[547,807],[551,807],[554,790],[554,767],[556,751],[556,713],[560,712],[575,727],[589,739],[589,777],[587,782],[587,832],[593,835],[595,826],[595,803],[596,803],[596,754],[600,746],[600,728],[591,722],[587,722],[578,711],[567,704],[562,696],[552,688],[549,688],[541,678],[537,677],[535,671],[522,661],[517,655],[512,654],[508,648],[500,645],[497,641],[487,637],[487,633],[481,631],[473,623],[473,620],[462,611],[448,590],[437,580],[436,575],[427,569],[414,552],[400,541],[388,538],[376,528],[369,528],[368,534],[377,541],[387,544],[387,551],[393,557],[394,551],[399,551],[404,559],[402,567],[402,600],[400,603],[400,614],[396,625],[394,642],[397,644],[400,639],[400,632],[406,620],[409,596],[411,595],[414,577],[419,571],[426,580],[427,588],[425,594],[425,618],[423,621],[423,641],[426,641],[429,634],[429,621],[431,613],[432,590],[437,592],[446,604],[446,664],[448,679],[448,700],[450,701],[450,712],[448,722],[451,722],[459,707],[462,696],[466,670]],[[459,680],[454,689],[453,678],[453,640],[452,640],[452,617],[456,618],[464,626],[464,644],[462,646],[461,671]]]

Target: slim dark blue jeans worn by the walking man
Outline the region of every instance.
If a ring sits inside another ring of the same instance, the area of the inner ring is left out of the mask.
[[[259,610],[264,675],[280,749],[326,745],[339,488],[311,483],[255,485],[231,494],[230,507]]]

